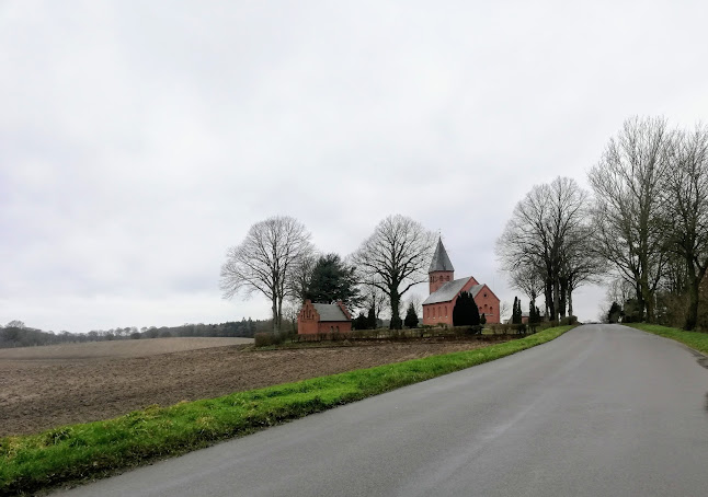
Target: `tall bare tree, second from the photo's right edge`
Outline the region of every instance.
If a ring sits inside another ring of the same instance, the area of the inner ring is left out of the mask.
[[[659,198],[673,136],[663,118],[629,119],[590,172],[596,246],[635,284],[650,322],[655,320],[654,296],[666,262]]]

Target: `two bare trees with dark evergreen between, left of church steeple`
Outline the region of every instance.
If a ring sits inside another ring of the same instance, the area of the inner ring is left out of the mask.
[[[224,298],[264,296],[271,302],[276,332],[283,328],[284,303],[297,308],[306,299],[342,300],[351,309],[366,309],[369,322],[379,317],[386,302],[390,327],[402,327],[403,296],[427,280],[435,242],[431,231],[408,217],[389,216],[346,261],[336,254],[317,254],[310,239],[305,226],[292,217],[253,224],[243,242],[227,251],[220,274]]]

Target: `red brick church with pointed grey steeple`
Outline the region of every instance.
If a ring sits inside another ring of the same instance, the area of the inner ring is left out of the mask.
[[[499,298],[484,284],[479,284],[473,276],[455,279],[455,268],[450,263],[443,240],[437,241],[430,276],[431,294],[423,302],[423,324],[435,325],[439,323],[453,325],[453,308],[457,297],[467,291],[475,298],[479,314],[484,314],[488,323],[499,323]]]

